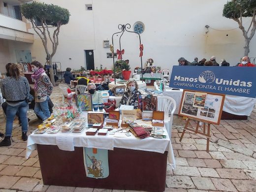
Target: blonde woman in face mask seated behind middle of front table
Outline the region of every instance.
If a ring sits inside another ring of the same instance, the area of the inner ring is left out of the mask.
[[[126,83],[126,89],[120,103],[121,105],[133,105],[134,109],[138,109],[138,102],[141,96],[141,93],[138,91],[138,84],[134,79],[128,80]]]

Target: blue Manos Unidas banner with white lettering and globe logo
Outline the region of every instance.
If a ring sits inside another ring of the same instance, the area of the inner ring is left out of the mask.
[[[173,66],[171,88],[256,97],[256,67]]]

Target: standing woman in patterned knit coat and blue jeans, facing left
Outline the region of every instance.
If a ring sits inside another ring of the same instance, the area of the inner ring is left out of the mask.
[[[43,65],[37,61],[31,63],[34,74],[31,76],[34,81],[35,105],[34,113],[43,121],[51,116],[48,106],[48,100],[53,91],[53,85],[50,78],[43,69]]]

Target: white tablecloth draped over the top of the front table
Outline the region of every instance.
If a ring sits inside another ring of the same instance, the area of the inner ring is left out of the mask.
[[[137,120],[141,121],[141,120]],[[164,128],[166,133],[166,129]],[[116,148],[125,148],[132,150],[142,150],[150,151],[157,153],[168,152],[168,162],[175,168],[175,159],[173,154],[172,145],[170,138],[167,134],[165,139],[157,139],[154,137],[148,137],[145,139],[136,138],[133,134],[129,137],[114,137],[114,135],[95,135],[90,136],[86,135],[86,130],[83,130],[81,133],[72,133],[72,132],[61,132],[59,131],[56,134],[34,134],[32,133],[28,137],[27,142],[27,151],[26,158],[29,158],[32,151],[36,149],[36,144],[42,145],[57,145],[56,136],[57,135],[68,135],[68,137],[73,137],[75,147],[89,147],[89,148],[98,148],[98,149],[107,149],[113,150]]]

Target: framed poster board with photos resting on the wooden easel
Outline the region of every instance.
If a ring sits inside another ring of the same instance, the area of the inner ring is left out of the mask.
[[[225,95],[184,90],[179,115],[210,124],[220,124]]]

